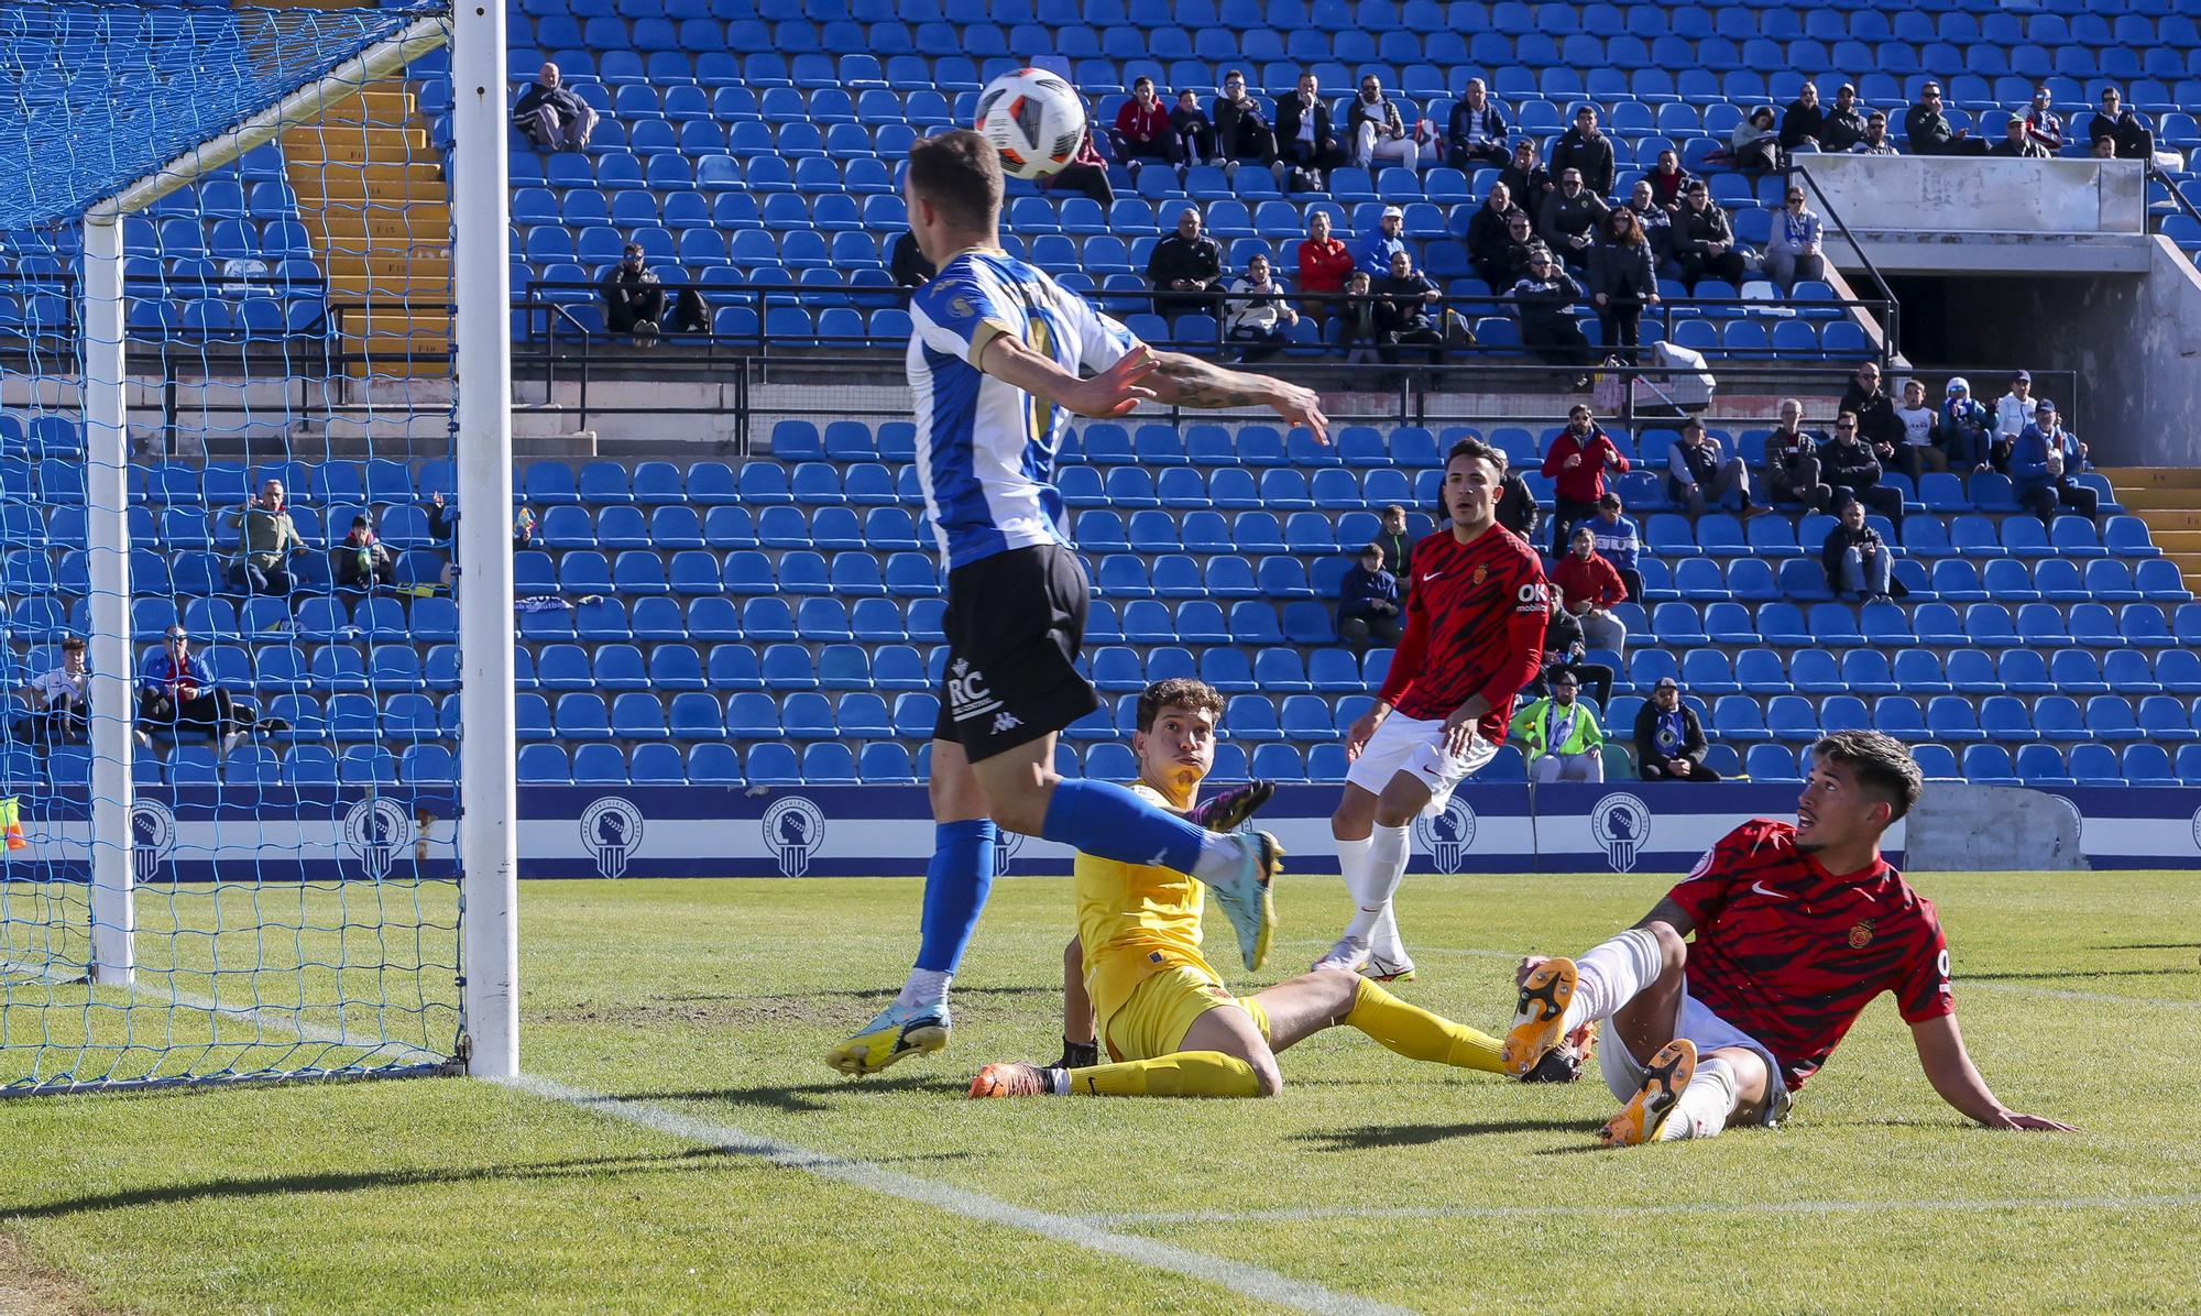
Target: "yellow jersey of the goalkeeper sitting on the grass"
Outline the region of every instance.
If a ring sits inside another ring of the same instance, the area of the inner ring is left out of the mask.
[[[1129,790],[1160,808],[1175,808],[1142,781]],[[1085,852],[1078,852],[1074,871],[1085,993],[1100,1019],[1120,1010],[1138,984],[1164,968],[1191,964],[1215,977],[1200,955],[1200,913],[1206,904],[1200,880]]]

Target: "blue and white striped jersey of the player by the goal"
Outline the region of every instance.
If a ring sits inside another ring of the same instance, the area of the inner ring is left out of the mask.
[[[949,570],[1070,544],[1054,456],[1070,414],[979,370],[1008,335],[1072,374],[1107,370],[1138,346],[1127,328],[1006,251],[949,257],[909,299],[909,392],[918,409],[918,484]]]

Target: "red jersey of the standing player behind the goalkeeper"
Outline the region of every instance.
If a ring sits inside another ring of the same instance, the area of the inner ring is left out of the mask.
[[[1552,616],[1543,561],[1492,524],[1468,544],[1450,528],[1437,530],[1413,546],[1406,572],[1406,634],[1382,682],[1384,702],[1402,717],[1442,720],[1481,693],[1490,711],[1477,728],[1503,744],[1512,700],[1536,676]]]

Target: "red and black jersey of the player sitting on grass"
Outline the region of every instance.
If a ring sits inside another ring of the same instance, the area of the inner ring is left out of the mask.
[[[1932,900],[1884,858],[1833,876],[1796,849],[1792,823],[1752,819],[1668,898],[1697,924],[1688,995],[1765,1043],[1789,1092],[1880,993],[1906,1023],[1957,1010]]]

